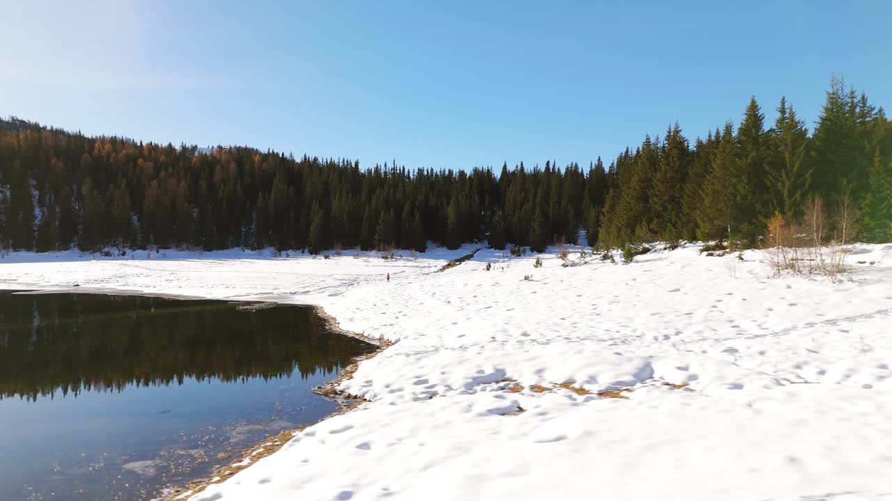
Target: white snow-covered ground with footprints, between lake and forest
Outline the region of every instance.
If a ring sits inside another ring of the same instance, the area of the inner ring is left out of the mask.
[[[13,253],[0,288],[308,303],[398,341],[340,387],[367,404],[195,501],[892,499],[892,245],[857,246],[838,283],[694,246],[437,272],[473,249]]]

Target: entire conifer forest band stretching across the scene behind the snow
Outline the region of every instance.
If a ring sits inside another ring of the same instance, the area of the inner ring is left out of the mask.
[[[0,121],[0,249],[451,249],[488,240],[544,250],[720,240],[756,245],[814,196],[855,207],[858,237],[892,241],[892,121],[834,78],[814,128],[752,98],[735,127],[691,142],[674,124],[600,158],[499,171],[295,159],[249,147],[137,143]],[[842,209],[839,209],[842,210]]]

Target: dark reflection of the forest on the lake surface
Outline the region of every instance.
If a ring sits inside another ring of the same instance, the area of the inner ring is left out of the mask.
[[[0,398],[332,372],[358,354],[308,308],[0,292]]]

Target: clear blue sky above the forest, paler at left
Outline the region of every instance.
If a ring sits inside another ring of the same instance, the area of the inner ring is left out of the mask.
[[[620,5],[622,4],[622,5]],[[587,165],[691,138],[814,127],[836,73],[892,108],[892,2],[0,0],[0,116],[173,144],[415,168]]]

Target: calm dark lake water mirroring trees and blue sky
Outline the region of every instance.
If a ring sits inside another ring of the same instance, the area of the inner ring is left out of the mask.
[[[0,291],[0,499],[148,499],[337,410],[310,308]]]

